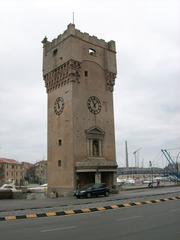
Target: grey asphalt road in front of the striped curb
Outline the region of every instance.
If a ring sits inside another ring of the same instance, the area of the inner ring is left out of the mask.
[[[179,240],[180,201],[0,222],[2,240]]]

